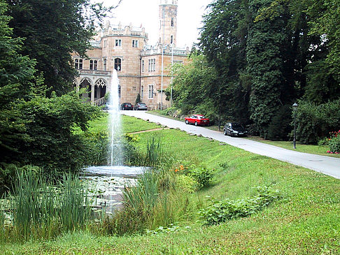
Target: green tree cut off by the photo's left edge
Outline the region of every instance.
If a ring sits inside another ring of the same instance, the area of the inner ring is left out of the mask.
[[[0,163],[17,151],[17,143],[29,140],[27,121],[17,107],[29,94],[34,79],[34,61],[20,55],[21,38],[12,38],[5,15],[7,4],[0,0]]]

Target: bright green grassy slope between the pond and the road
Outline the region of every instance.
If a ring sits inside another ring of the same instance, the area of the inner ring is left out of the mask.
[[[127,122],[134,125],[132,118],[126,118]],[[203,162],[218,170],[213,185],[192,196],[197,205],[205,205],[206,196],[246,198],[254,194],[253,187],[269,183],[275,184],[283,199],[253,217],[220,226],[202,227],[192,219],[180,223],[182,228],[176,233],[119,238],[69,233],[52,241],[5,245],[3,251],[8,254],[340,253],[340,180],[178,130],[153,131],[140,136],[141,146],[148,137],[161,136],[168,152],[181,163]],[[221,168],[220,163],[227,168]]]

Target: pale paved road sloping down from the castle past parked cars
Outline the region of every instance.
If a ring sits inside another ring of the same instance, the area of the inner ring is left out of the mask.
[[[320,173],[324,173],[325,175],[330,175],[340,179],[340,159],[337,158],[295,152],[293,150],[286,150],[273,145],[267,145],[243,138],[231,138],[230,136],[224,136],[223,133],[218,131],[212,131],[201,126],[186,125],[184,122],[151,115],[144,111],[125,110],[122,111],[122,113],[129,116],[139,117],[141,119],[148,119],[150,122],[158,122],[162,125],[172,128],[179,128],[186,131],[187,133],[195,133],[197,135],[201,134],[204,137],[219,140],[223,143],[227,143],[234,147],[239,147],[248,152],[253,152],[255,154],[269,156],[274,159],[293,163],[297,166],[303,166],[305,168],[316,170]]]

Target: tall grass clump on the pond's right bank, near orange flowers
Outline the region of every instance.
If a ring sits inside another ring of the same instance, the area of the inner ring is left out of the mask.
[[[187,210],[186,196],[176,189],[176,177],[169,171],[146,170],[136,184],[125,187],[123,196],[125,207],[106,219],[106,233],[143,233],[169,226]]]

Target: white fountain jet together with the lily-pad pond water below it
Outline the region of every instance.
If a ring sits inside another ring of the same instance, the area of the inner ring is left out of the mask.
[[[100,193],[97,196],[97,205],[104,206],[106,212],[110,213],[120,206],[125,185],[133,184],[136,175],[143,173],[144,168],[123,165],[119,80],[116,70],[112,72],[111,86],[108,90],[110,92],[108,166],[91,166],[85,170],[83,178],[90,180],[97,187]]]

